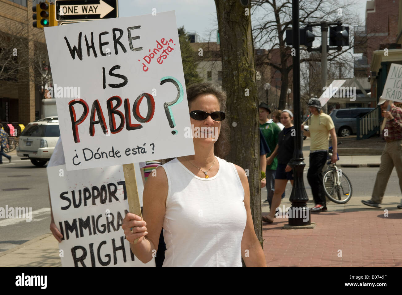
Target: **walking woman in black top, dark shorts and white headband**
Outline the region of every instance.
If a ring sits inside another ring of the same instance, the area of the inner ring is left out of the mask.
[[[278,167],[275,175],[275,192],[272,198],[272,206],[268,215],[263,216],[263,221],[273,223],[275,212],[281,204],[281,195],[285,192],[287,181],[290,180],[293,186],[292,167],[288,165],[293,157],[294,136],[296,130],[293,126],[293,113],[288,109],[284,109],[281,113],[281,123],[285,126],[279,133],[278,144],[275,150],[267,158],[267,164],[271,163],[275,157],[278,159]]]

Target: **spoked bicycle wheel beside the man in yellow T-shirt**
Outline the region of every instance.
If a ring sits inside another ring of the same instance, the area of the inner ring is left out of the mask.
[[[339,184],[336,183],[337,172],[335,170],[326,171],[324,174],[324,188],[326,196],[336,204],[345,204],[352,197],[352,184],[349,178],[342,172],[342,176],[339,177]]]

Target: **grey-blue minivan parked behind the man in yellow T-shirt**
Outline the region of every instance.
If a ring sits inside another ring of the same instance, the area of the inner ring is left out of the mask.
[[[351,109],[334,109],[330,116],[338,136],[349,136],[357,132],[357,118],[361,118],[374,108],[357,107]]]

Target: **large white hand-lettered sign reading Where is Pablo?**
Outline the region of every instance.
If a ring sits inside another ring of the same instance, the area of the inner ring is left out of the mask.
[[[194,154],[174,11],[45,37],[68,170]]]

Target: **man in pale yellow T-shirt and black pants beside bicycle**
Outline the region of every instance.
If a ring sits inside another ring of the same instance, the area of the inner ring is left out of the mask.
[[[321,102],[317,98],[310,98],[308,101],[308,109],[312,114],[308,119],[309,131],[301,125],[304,135],[311,138],[310,144],[310,167],[307,172],[307,180],[311,186],[315,206],[311,208],[312,212],[327,210],[326,194],[322,181],[322,168],[324,168],[328,156],[328,136],[331,135],[333,154],[331,162],[338,160],[336,155],[338,141],[336,138],[334,122],[330,116],[322,112]]]

